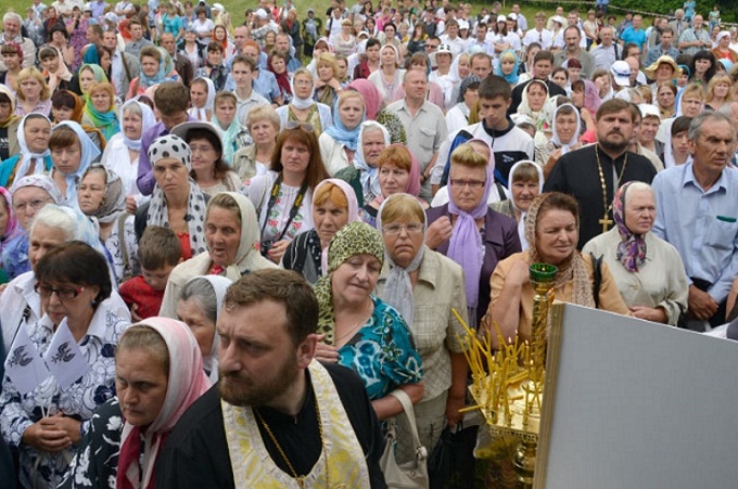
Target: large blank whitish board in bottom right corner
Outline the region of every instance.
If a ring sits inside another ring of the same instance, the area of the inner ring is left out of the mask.
[[[738,343],[563,307],[545,487],[738,487]]]

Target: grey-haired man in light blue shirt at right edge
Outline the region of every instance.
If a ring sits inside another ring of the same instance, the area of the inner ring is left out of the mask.
[[[679,252],[689,278],[687,326],[704,331],[725,322],[738,274],[738,172],[726,169],[736,129],[722,113],[703,112],[689,126],[692,162],[653,180],[653,232]]]

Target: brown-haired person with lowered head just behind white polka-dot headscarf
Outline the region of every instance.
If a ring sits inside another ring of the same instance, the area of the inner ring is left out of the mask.
[[[195,120],[187,114],[187,110],[190,108],[190,90],[179,81],[165,81],[160,85],[154,92],[154,105],[160,121],[141,136],[141,154],[136,179],[139,191],[143,195],[151,195],[156,183],[148,154],[151,143],[156,138],[168,134],[178,124]]]

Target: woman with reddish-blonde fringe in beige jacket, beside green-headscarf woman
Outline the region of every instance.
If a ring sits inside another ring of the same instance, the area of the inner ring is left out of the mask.
[[[422,358],[428,382],[415,411],[420,441],[432,448],[446,423],[453,427],[462,417],[468,365],[457,335],[465,332],[451,311],[466,319],[463,271],[424,245],[428,220],[413,196],[387,197],[379,222],[385,265],[378,292],[403,314]]]

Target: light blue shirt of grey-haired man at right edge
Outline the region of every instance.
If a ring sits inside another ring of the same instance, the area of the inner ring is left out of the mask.
[[[724,169],[705,191],[692,165],[665,169],[653,179],[653,232],[676,247],[688,278],[712,284],[707,292],[721,303],[738,273],[738,170]]]

